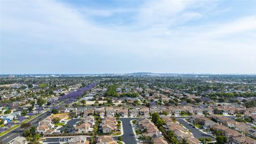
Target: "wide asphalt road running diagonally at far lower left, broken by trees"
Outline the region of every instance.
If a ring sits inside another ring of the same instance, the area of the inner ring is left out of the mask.
[[[50,116],[51,113],[49,111],[47,111],[44,114],[41,114],[40,116],[36,117],[35,119],[31,120],[29,123],[31,125],[36,125],[39,121],[42,121],[44,118]],[[21,127],[19,126],[17,129],[3,135],[2,137],[0,137],[0,140],[2,140],[3,143],[7,143],[10,142],[11,140],[21,136],[23,133]]]

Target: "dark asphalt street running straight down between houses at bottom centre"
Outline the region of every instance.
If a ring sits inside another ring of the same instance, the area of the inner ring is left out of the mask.
[[[132,131],[132,125],[130,123],[130,121],[132,119],[138,119],[137,117],[130,117],[130,118],[120,118],[120,121],[122,121],[123,124],[123,130],[124,130],[124,134],[122,135],[123,137],[123,142],[125,143],[129,143],[129,144],[137,144],[133,131]],[[118,137],[114,137],[115,140],[118,139]]]

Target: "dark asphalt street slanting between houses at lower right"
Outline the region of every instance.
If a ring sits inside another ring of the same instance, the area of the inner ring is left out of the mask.
[[[199,138],[211,138],[212,141],[215,141],[215,138],[212,137],[211,135],[208,135],[208,134],[205,134],[201,131],[199,131],[198,129],[196,128],[193,128],[193,126],[189,125],[188,122],[186,122],[184,119],[177,119],[177,121],[182,124],[183,126],[185,126],[188,130],[190,130],[194,137],[199,139]]]

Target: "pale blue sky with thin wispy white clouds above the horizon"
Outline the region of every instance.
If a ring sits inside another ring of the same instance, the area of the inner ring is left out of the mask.
[[[256,1],[0,3],[0,74],[256,74]]]

